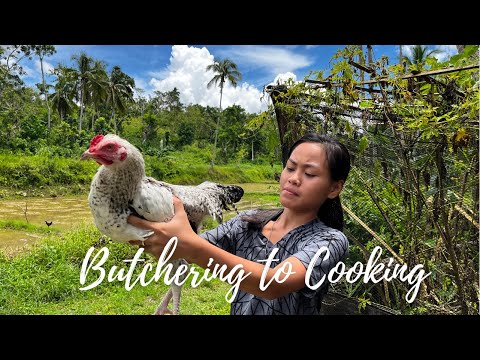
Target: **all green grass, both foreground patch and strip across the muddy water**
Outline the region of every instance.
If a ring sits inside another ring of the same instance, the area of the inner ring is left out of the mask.
[[[245,184],[244,199],[252,208],[262,203],[278,202],[278,189],[273,182],[279,166],[241,163],[215,166],[204,161],[194,162],[181,154],[175,157],[146,157],[146,172],[158,179],[178,184],[198,184],[204,180]],[[98,165],[77,159],[46,158],[42,156],[13,156],[0,154],[0,198],[86,194]],[[263,183],[262,185],[251,183]],[[265,186],[268,190],[265,190]],[[233,216],[226,214],[225,220]],[[213,220],[203,224],[203,230],[216,226]],[[97,287],[81,291],[80,269],[91,246],[95,253],[106,246],[110,255],[103,268],[112,266],[128,270],[137,247],[128,244],[99,241],[101,234],[93,225],[80,225],[72,231],[29,224],[25,221],[0,220],[0,229],[42,234],[43,239],[19,254],[8,255],[0,250],[0,314],[151,314],[169,287],[160,279],[148,286],[137,284],[130,291],[125,283],[104,279]],[[155,262],[148,255],[147,261]],[[141,272],[143,263],[135,269]],[[198,269],[200,273],[202,269]],[[96,279],[89,272],[86,284]],[[85,284],[85,285],[86,285]],[[214,279],[193,288],[189,281],[183,286],[181,314],[228,314],[230,304],[225,295],[230,285]]]

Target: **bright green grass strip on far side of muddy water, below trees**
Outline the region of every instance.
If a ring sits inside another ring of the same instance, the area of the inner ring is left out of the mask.
[[[145,156],[149,176],[173,184],[196,185],[205,180],[240,184],[275,181],[281,165],[242,162],[210,169],[199,154],[174,152],[161,158]],[[75,158],[0,154],[0,199],[25,196],[86,194],[98,164]]]

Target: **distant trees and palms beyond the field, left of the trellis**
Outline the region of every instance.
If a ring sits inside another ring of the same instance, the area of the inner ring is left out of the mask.
[[[261,130],[252,141],[240,141],[248,135],[245,125],[254,115],[238,105],[224,109],[224,114],[209,106],[185,106],[177,88],[134,99],[133,78],[118,66],[109,71],[106,62],[84,52],[72,56],[71,67],[53,69],[53,84],[25,87],[16,75],[21,73],[21,60],[37,53],[44,59],[54,52],[41,45],[0,48],[0,152],[76,157],[94,135],[117,133],[153,156],[193,144],[212,154],[214,144],[220,149],[219,165],[271,158],[262,144],[271,129]],[[218,83],[221,93],[223,83],[235,85],[240,73],[228,59],[218,65],[212,69],[222,72],[212,84]],[[219,127],[221,117],[225,124]]]

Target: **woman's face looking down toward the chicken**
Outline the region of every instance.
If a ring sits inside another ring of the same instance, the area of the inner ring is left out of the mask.
[[[302,143],[287,160],[280,177],[280,203],[298,212],[317,212],[323,202],[335,198],[343,180],[330,178],[327,154],[322,144]]]

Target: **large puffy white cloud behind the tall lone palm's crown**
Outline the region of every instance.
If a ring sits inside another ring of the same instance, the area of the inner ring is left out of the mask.
[[[171,91],[177,88],[180,101],[185,104],[202,106],[219,106],[220,90],[215,86],[207,89],[207,83],[213,78],[212,71],[206,71],[214,57],[207,48],[196,48],[185,45],[172,46],[170,64],[166,69],[151,73],[150,85],[158,91]],[[223,88],[222,108],[239,105],[248,113],[258,113],[267,108],[261,101],[262,93],[253,85],[238,83],[234,88],[225,83]]]

